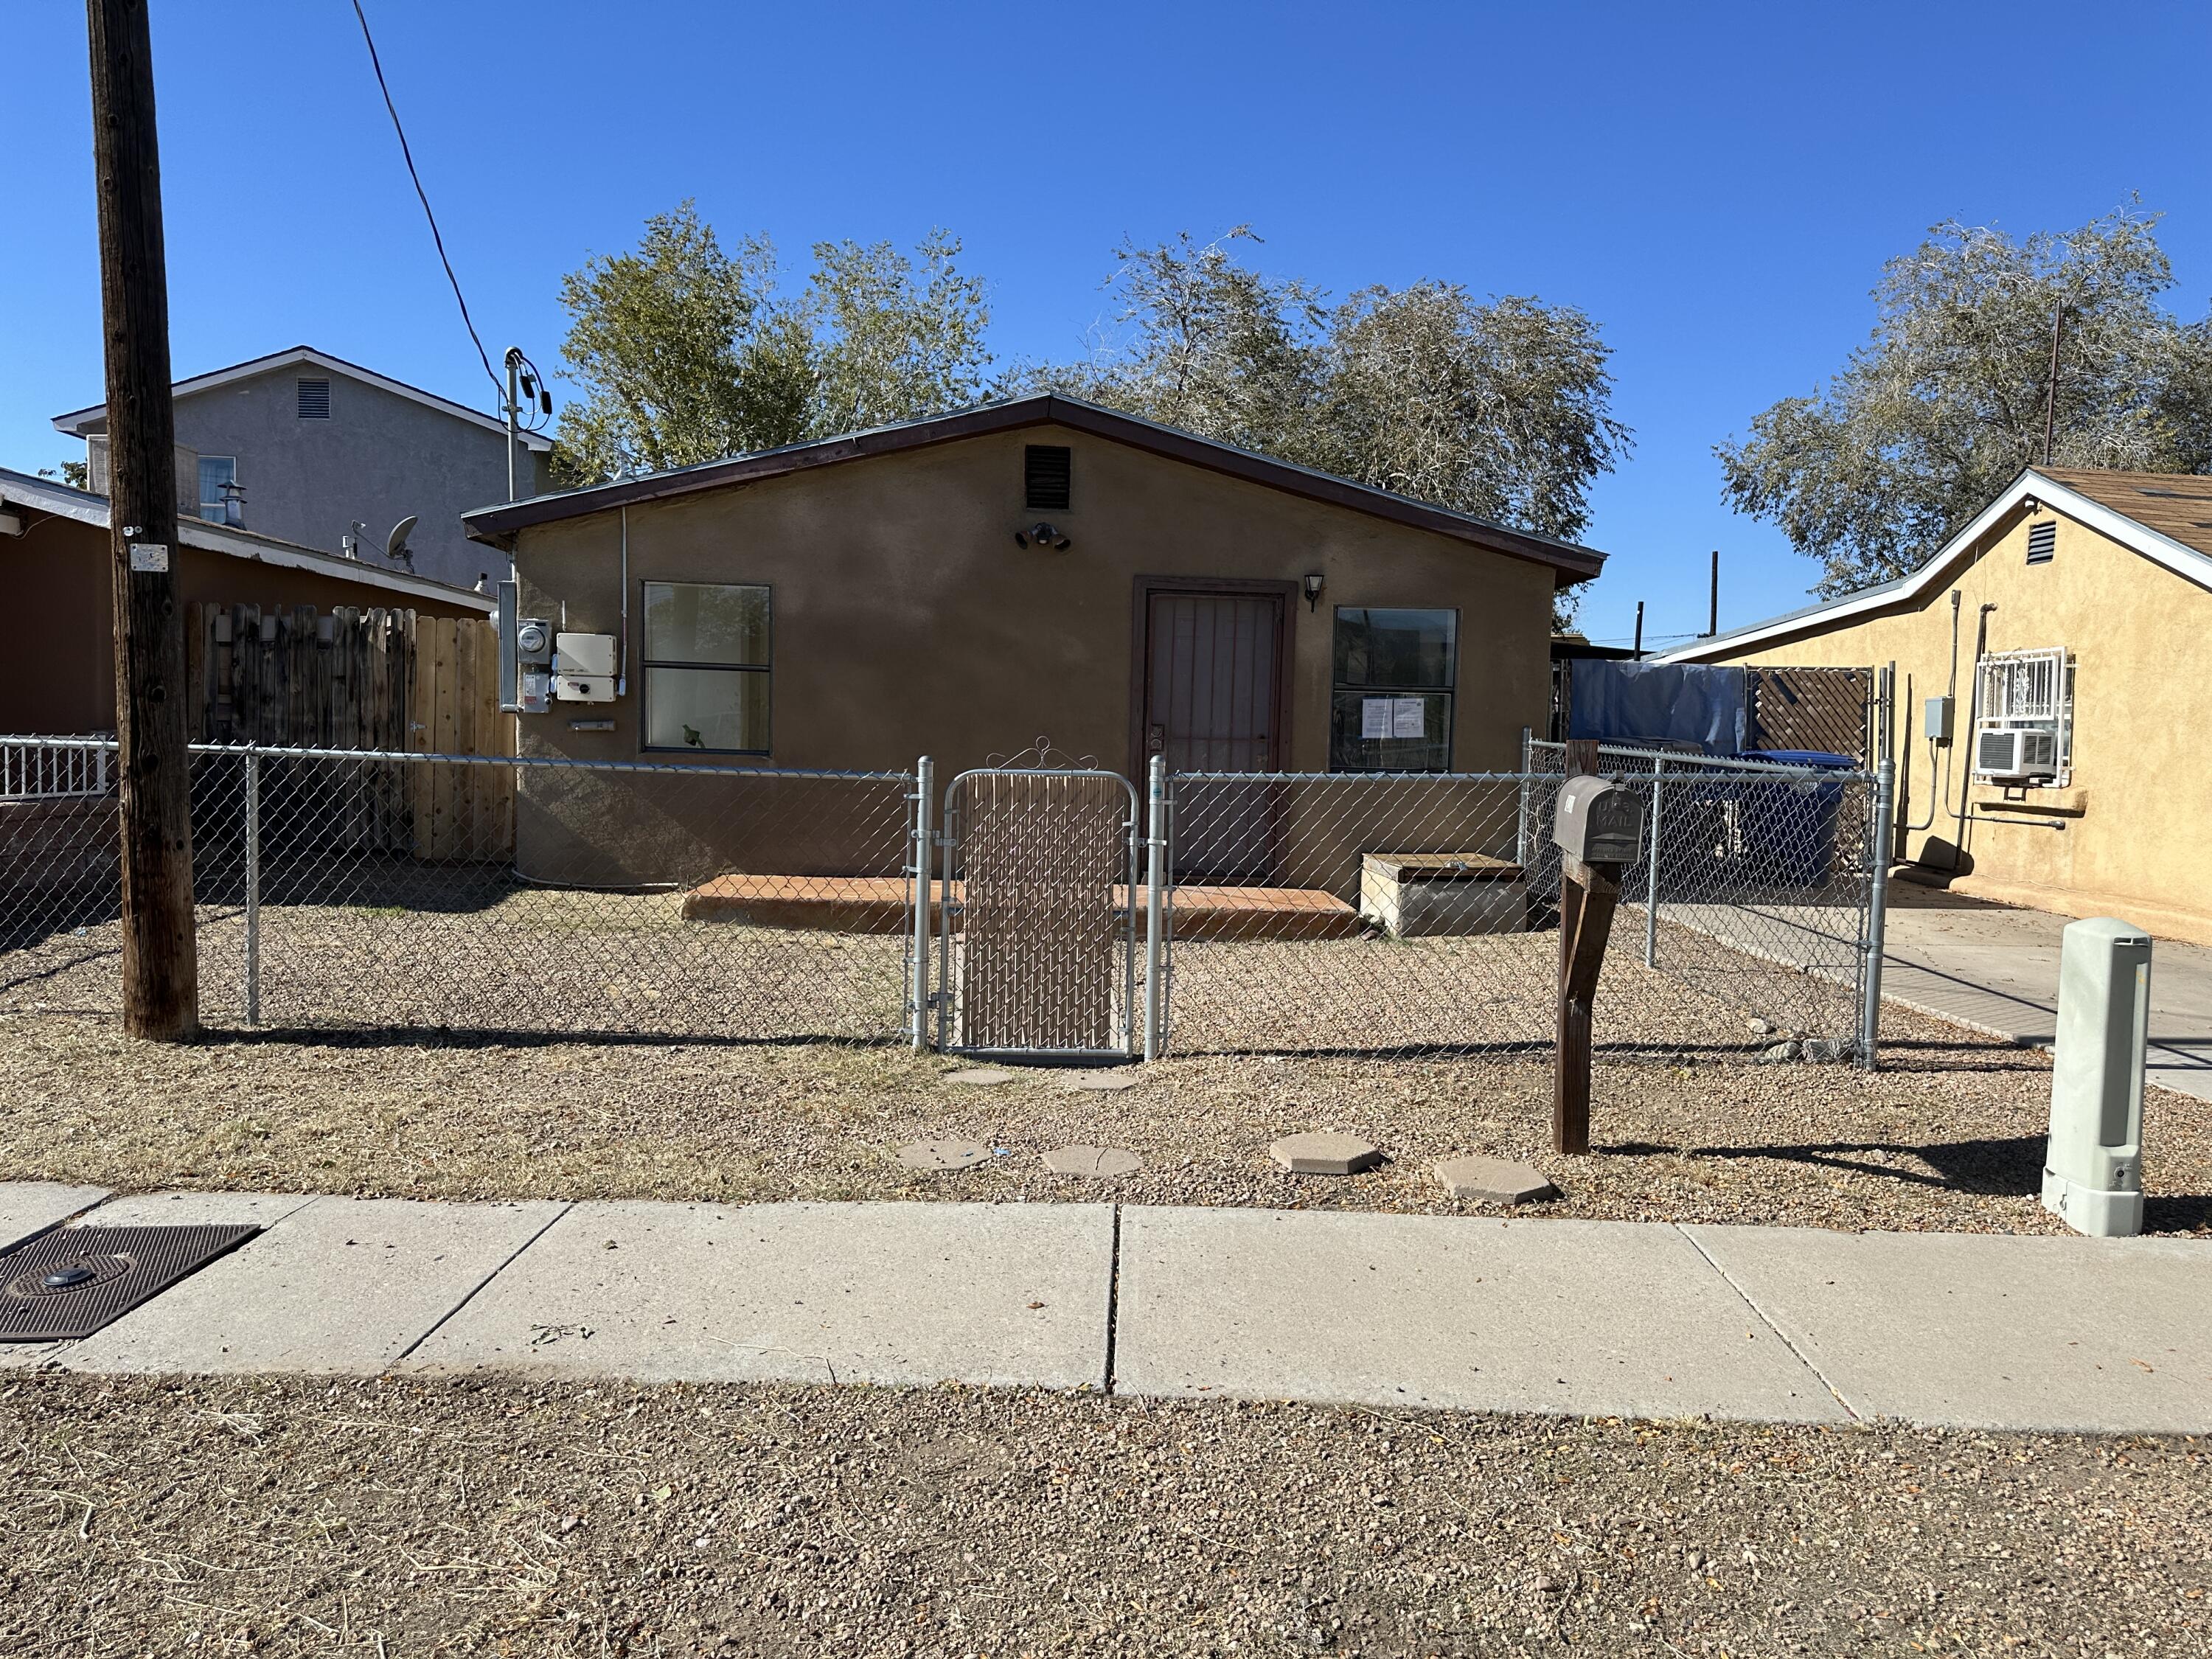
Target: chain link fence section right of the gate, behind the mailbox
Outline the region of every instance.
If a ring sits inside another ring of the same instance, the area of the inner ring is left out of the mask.
[[[1533,763],[1553,765],[1179,774],[1170,1046],[1548,1048],[1559,975],[1551,821],[1564,761],[1531,748]],[[1617,1057],[1743,1053],[1781,1033],[1814,1040],[1816,1053],[1856,1053],[1869,781],[1626,759],[1641,770],[1606,774],[1644,796],[1646,852],[1621,876],[1597,1046]]]

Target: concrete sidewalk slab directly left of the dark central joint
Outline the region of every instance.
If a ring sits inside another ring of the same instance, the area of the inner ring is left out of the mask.
[[[405,1369],[1102,1387],[1104,1203],[577,1203]]]

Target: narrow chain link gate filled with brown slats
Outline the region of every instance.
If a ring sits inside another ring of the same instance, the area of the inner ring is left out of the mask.
[[[1137,792],[1117,772],[982,768],[945,790],[938,1048],[1137,1053]]]

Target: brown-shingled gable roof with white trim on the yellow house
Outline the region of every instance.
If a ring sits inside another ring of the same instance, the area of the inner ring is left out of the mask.
[[[1905,606],[1931,588],[1940,588],[1964,566],[1982,540],[2022,502],[2035,498],[2077,524],[2086,524],[2110,542],[2141,553],[2183,582],[2212,593],[2212,478],[2197,473],[2108,473],[2086,467],[2028,467],[2006,489],[1966,522],[1936,557],[1911,575],[1880,582],[1840,599],[1785,611],[1728,633],[1705,635],[1657,661],[1705,661],[1728,657],[1770,639],[1812,633],[1838,622]]]

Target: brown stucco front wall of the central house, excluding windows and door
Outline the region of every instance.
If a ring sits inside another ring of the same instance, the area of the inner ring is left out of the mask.
[[[1024,507],[1024,445],[1073,451],[1073,504]],[[1020,549],[1051,520],[1066,551]],[[1522,726],[1548,699],[1551,566],[1228,478],[1064,427],[1029,427],[838,462],[750,484],[557,520],[518,533],[522,615],[582,633],[626,633],[628,695],[522,717],[524,754],[637,761],[641,584],[759,582],[772,588],[772,754],[690,757],[732,768],[978,768],[1048,737],[1071,757],[1141,774],[1135,743],[1139,577],[1283,582],[1321,573],[1316,608],[1290,608],[1287,732],[1270,765],[1327,770],[1336,606],[1453,606],[1460,613],[1453,768],[1511,770]],[[628,617],[624,619],[624,595]],[[606,732],[571,730],[608,719]],[[681,757],[666,757],[681,759]],[[568,774],[560,805],[518,821],[524,874],[666,880],[650,852],[695,843],[635,792]],[[524,794],[533,790],[524,774]],[[761,785],[765,787],[765,785]],[[787,785],[774,785],[787,787]],[[726,867],[776,858],[794,874],[852,874],[858,849],[816,841],[726,849]],[[697,847],[684,863],[697,856]],[[796,860],[796,863],[794,863]],[[805,865],[801,869],[799,865]]]

